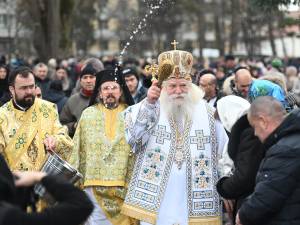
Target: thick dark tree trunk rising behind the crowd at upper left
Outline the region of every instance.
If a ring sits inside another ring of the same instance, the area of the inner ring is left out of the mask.
[[[24,26],[32,32],[33,46],[41,61],[49,58],[58,58],[64,55],[65,49],[61,45],[61,37],[70,32],[68,17],[76,0],[27,0],[20,1],[19,8],[27,13],[27,20],[22,21]],[[69,4],[66,4],[66,3]],[[64,7],[62,7],[62,5]],[[68,13],[66,13],[68,12]],[[62,20],[64,22],[62,22]],[[66,47],[67,45],[64,45]]]

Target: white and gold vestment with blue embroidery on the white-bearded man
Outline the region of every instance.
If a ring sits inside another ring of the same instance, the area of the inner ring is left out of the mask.
[[[215,184],[217,162],[228,138],[213,112],[199,100],[180,130],[159,101],[144,100],[126,109],[126,138],[136,163],[124,214],[142,225],[221,225]]]

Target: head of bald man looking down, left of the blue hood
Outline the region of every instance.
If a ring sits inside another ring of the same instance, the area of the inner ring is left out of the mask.
[[[238,67],[234,71],[234,83],[238,94],[247,99],[250,85],[252,83],[252,76],[246,67]]]

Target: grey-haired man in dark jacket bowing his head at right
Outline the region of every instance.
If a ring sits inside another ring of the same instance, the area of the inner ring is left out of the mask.
[[[286,115],[273,97],[257,98],[248,113],[264,144],[253,194],[243,203],[237,225],[300,224],[300,110]]]

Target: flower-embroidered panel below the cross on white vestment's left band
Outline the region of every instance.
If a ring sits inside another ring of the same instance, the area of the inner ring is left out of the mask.
[[[166,154],[159,147],[148,151],[146,153],[145,167],[142,170],[142,177],[149,181],[159,182],[166,158]]]

